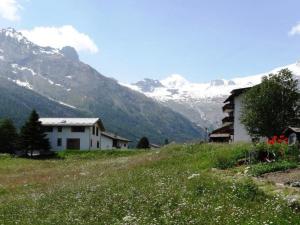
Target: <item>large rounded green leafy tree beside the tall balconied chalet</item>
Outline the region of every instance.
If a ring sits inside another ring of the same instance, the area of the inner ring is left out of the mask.
[[[243,99],[241,122],[254,138],[271,138],[287,126],[299,126],[298,81],[288,69],[264,77]]]

